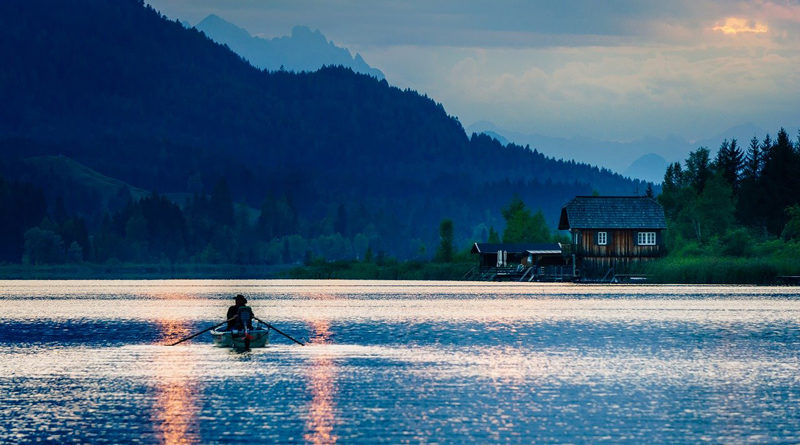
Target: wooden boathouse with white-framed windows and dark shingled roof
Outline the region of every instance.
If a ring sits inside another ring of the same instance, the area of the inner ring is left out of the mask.
[[[646,196],[576,196],[561,209],[581,279],[609,279],[664,255],[664,209]]]

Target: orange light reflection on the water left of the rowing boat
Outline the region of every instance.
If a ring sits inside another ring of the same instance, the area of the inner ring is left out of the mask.
[[[174,341],[192,334],[190,324],[158,320],[162,338]],[[152,420],[161,443],[199,443],[197,388],[193,377],[192,348],[161,348],[153,359],[155,404]]]

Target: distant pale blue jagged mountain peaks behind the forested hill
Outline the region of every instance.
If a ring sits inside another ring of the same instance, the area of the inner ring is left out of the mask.
[[[360,54],[351,55],[348,49],[328,41],[319,30],[312,31],[306,26],[295,26],[289,36],[262,39],[211,14],[194,27],[215,42],[228,45],[253,66],[268,71],[301,72],[316,71],[323,66],[343,66],[379,80],[384,78],[383,73],[367,65]]]

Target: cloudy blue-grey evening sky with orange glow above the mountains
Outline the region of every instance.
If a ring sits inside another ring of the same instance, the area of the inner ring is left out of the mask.
[[[149,0],[251,34],[319,29],[467,127],[632,141],[800,127],[800,0]]]

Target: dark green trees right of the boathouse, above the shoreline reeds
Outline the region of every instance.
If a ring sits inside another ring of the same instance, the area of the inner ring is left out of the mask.
[[[758,242],[800,236],[800,134],[781,128],[775,139],[753,137],[747,146],[725,140],[673,163],[661,195],[672,250],[700,248],[746,255]]]

